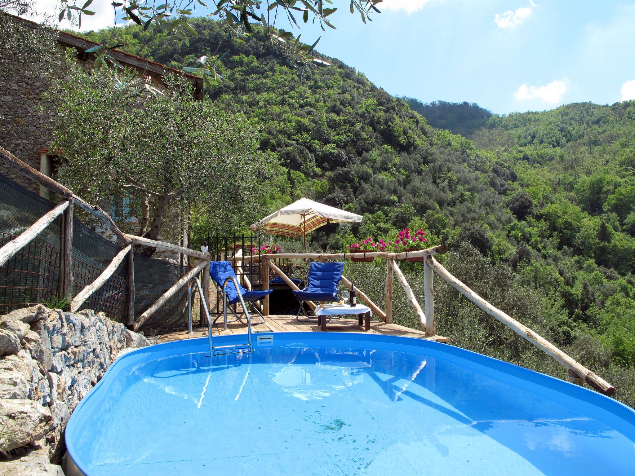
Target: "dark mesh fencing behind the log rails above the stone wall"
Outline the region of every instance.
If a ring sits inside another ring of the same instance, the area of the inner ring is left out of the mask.
[[[55,204],[0,175],[0,240],[4,245],[22,234]],[[0,267],[0,314],[56,300],[59,275],[60,219]],[[72,277],[74,294],[95,281],[121,248],[73,220]],[[123,322],[126,302],[127,260],[82,308],[103,311]],[[189,271],[169,261],[135,253],[135,319]],[[145,322],[147,334],[187,326],[187,289],[181,289]]]

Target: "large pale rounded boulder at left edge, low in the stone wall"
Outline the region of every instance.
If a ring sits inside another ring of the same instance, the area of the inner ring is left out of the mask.
[[[0,400],[0,428],[5,451],[42,439],[53,421],[45,407],[32,400]]]

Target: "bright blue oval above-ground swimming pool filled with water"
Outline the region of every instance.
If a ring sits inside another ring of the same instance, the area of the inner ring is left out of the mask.
[[[254,346],[210,359],[206,338],[192,339],[117,359],[69,420],[74,465],[88,476],[635,474],[635,412],[568,382],[413,338],[267,333]]]

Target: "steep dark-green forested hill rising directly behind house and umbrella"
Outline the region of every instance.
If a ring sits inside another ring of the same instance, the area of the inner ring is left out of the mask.
[[[479,220],[502,229],[501,223],[513,220],[504,193],[515,176],[495,154],[478,153],[461,136],[435,131],[403,100],[338,60],[323,57],[333,67],[309,68],[300,81],[266,41],[229,39],[215,22],[192,21],[199,36],[189,46],[159,34],[150,57],[193,67],[200,55],[229,51],[218,67],[223,79],[208,93],[218,105],[262,124],[262,148],[276,152],[283,166],[272,188],[272,209],[307,195],[368,214],[363,234],[406,226],[414,216],[438,223],[438,234]],[[137,26],[121,30],[116,40],[105,30],[89,37],[147,53],[150,32]],[[313,239],[328,248],[344,244],[325,233]]]

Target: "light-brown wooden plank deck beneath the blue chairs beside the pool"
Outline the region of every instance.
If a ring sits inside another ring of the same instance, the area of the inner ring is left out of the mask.
[[[215,317],[212,315],[212,319]],[[218,325],[220,324],[220,325]],[[197,327],[194,330],[194,335],[190,336],[187,333],[187,329],[184,331],[173,332],[170,334],[161,334],[155,336],[154,339],[158,342],[169,342],[173,340],[182,340],[197,338],[207,335],[207,328]],[[307,322],[304,319],[302,322],[295,319],[295,315],[268,315],[267,322],[264,324],[254,324],[251,327],[253,332],[321,332],[318,326],[317,320]],[[402,337],[415,337],[427,340],[436,340],[438,342],[447,342],[449,338],[443,336],[427,337],[423,331],[418,329],[410,329],[410,327],[399,326],[398,324],[386,324],[382,321],[371,321],[370,331],[364,331],[363,326],[358,325],[357,319],[337,319],[329,322],[326,325],[326,330],[329,332],[358,332],[358,333],[371,333],[371,334],[384,334],[387,336],[402,336]],[[227,325],[227,331],[223,329],[222,317],[218,319],[218,323],[214,326],[212,335],[226,335],[226,334],[244,334],[247,332],[247,327],[240,322],[232,322]]]

